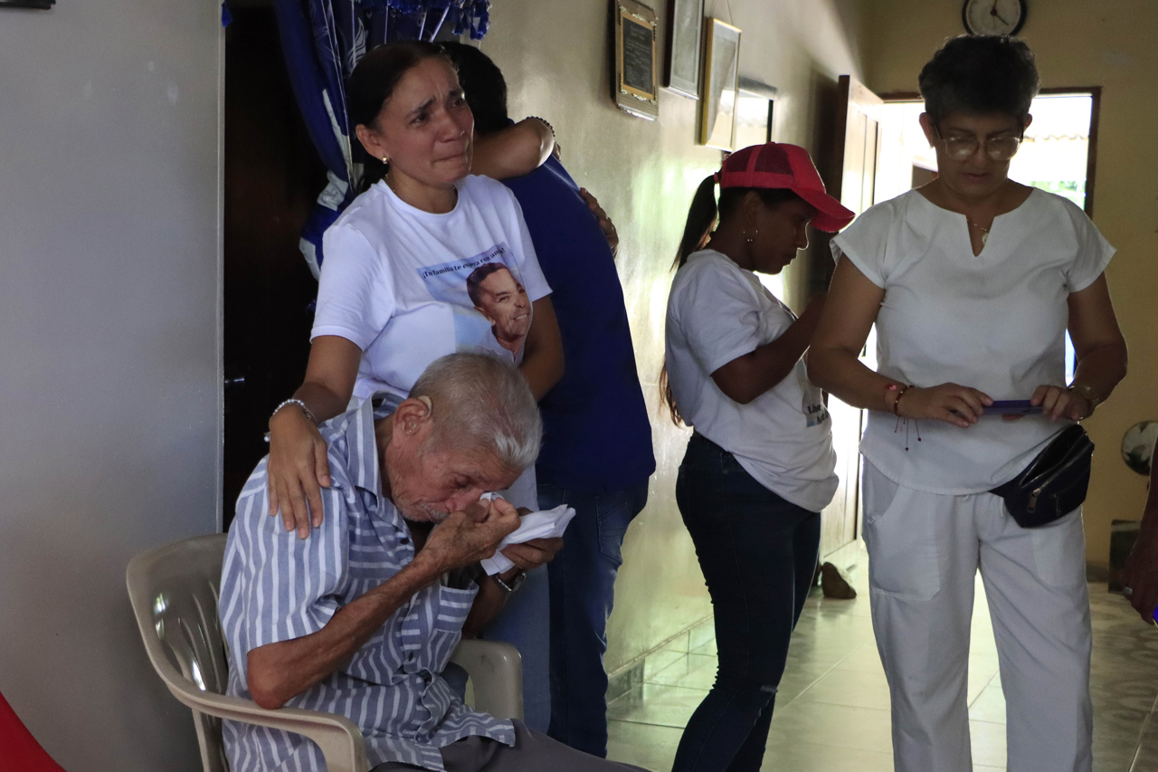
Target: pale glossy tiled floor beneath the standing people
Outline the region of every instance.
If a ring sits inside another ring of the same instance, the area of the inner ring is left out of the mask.
[[[853,545],[835,560],[860,597],[809,597],[776,699],[764,770],[891,772],[888,686],[873,642],[867,559]],[[1090,585],[1095,772],[1158,772],[1158,629],[1105,585]],[[992,627],[979,581],[969,656],[969,728],[976,772],[1005,769],[1005,704]],[[654,653],[644,684],[609,707],[610,758],[672,767],[683,726],[716,677],[710,621]]]

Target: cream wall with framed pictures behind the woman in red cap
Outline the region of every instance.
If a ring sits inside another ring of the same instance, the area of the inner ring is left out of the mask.
[[[645,1],[666,29],[666,0]],[[503,68],[512,117],[538,115],[555,125],[564,165],[600,199],[620,232],[620,279],[652,412],[658,469],[647,509],[624,544],[608,628],[607,667],[614,671],[711,613],[695,549],[675,505],[676,472],[690,432],[676,429],[659,409],[657,379],[672,258],[691,195],[719,168],[720,153],[695,144],[692,100],[661,90],[655,122],[614,105],[609,5],[608,0],[498,0],[482,50]],[[775,140],[813,152],[828,150],[830,140],[824,137],[831,126],[824,116],[834,107],[836,80],[842,74],[864,77],[860,5],[857,0],[706,0],[708,15],[742,30],[740,74],[779,89]],[[662,51],[666,34],[660,41]],[[807,271],[793,265],[786,274],[787,301],[796,303]]]

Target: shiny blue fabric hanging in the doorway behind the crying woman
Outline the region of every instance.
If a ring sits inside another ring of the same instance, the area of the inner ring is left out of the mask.
[[[329,184],[301,234],[317,277],[322,234],[354,198],[364,153],[346,119],[345,83],[366,51],[394,41],[432,41],[444,28],[482,39],[490,0],[274,0],[290,82]]]

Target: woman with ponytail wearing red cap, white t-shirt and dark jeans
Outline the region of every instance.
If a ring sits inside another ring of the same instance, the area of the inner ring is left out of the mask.
[[[675,493],[716,612],[719,670],[675,772],[755,772],[764,756],[837,479],[828,410],[801,362],[824,298],[798,319],[755,274],[792,262],[809,223],[837,231],[851,219],[808,153],[775,143],[732,154],[688,212],[667,305],[665,396],[673,420],[695,427]]]

